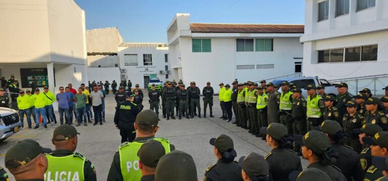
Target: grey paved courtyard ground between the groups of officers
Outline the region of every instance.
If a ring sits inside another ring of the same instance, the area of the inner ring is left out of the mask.
[[[144,95],[147,95],[147,92],[144,92]],[[234,141],[234,148],[237,151],[236,160],[240,156],[247,155],[251,152],[266,155],[271,150],[266,142],[249,134],[247,130],[236,127],[218,118],[220,117],[221,109],[217,96],[214,98],[214,104],[213,114],[215,117],[182,118],[181,120],[166,120],[161,118],[159,123],[160,130],[156,134],[157,137],[168,138],[177,150],[182,150],[192,155],[197,164],[197,172],[200,179],[202,179],[205,169],[217,161],[212,146],[209,144],[210,138],[217,137],[220,134],[230,136]],[[148,96],[144,97],[143,105],[144,108],[149,108]],[[203,106],[202,100],[201,106]],[[113,124],[114,107],[115,100],[113,95],[110,94],[106,99],[107,122],[103,126],[89,124],[87,127],[77,127],[81,135],[78,136],[76,151],[84,154],[92,161],[97,170],[98,180],[107,179],[113,155],[120,145],[121,137],[119,130]],[[57,113],[56,115],[57,120],[59,120],[59,114]],[[51,138],[57,126],[58,124],[56,126],[49,126],[48,129],[40,130],[24,129],[6,141],[0,142],[0,166],[4,167],[4,154],[8,148],[22,139],[34,139],[40,145],[54,149],[55,147],[51,143]],[[306,168],[307,164],[307,161],[302,159],[303,168]],[[14,180],[12,175],[11,180]]]

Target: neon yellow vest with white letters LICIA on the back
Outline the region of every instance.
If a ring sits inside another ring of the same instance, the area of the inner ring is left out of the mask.
[[[86,158],[79,153],[56,157],[46,154],[49,165],[44,180],[85,180],[83,165]]]

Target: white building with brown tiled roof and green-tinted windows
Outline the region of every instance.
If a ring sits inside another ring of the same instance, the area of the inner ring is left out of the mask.
[[[170,64],[175,80],[203,87],[210,81],[260,81],[302,70],[303,25],[190,23],[176,14],[167,28]]]

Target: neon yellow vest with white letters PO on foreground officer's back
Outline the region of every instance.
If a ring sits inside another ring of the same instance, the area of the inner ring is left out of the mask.
[[[166,154],[170,153],[170,142],[166,138],[154,138],[162,143]],[[120,168],[124,180],[140,180],[141,170],[139,169],[139,157],[137,152],[144,142],[123,143],[119,148]]]

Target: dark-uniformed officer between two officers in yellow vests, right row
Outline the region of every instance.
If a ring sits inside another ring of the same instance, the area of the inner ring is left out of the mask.
[[[293,93],[293,111],[291,116],[293,117],[293,133],[297,135],[306,134],[306,112],[307,112],[307,101],[302,96],[302,90],[299,88],[291,89]],[[301,146],[295,145],[294,151],[301,153]]]

